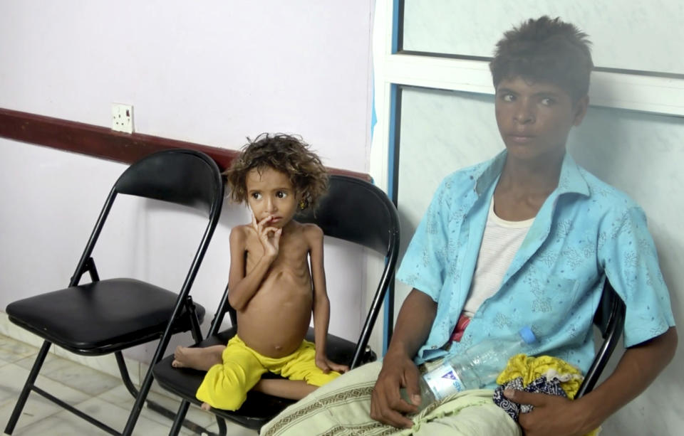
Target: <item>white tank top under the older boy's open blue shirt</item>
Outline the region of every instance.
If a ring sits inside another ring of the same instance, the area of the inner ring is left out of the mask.
[[[477,255],[475,275],[463,312],[471,317],[485,299],[496,294],[504,275],[522,245],[534,218],[524,221],[502,220],[494,213],[494,198],[489,203],[487,224],[484,226],[482,245]]]

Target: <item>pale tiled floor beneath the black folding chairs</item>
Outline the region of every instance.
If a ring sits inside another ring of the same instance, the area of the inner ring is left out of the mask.
[[[14,403],[24,386],[28,371],[38,349],[8,336],[0,335],[0,430],[4,430]],[[113,358],[113,356],[112,356]],[[133,397],[118,378],[100,373],[87,366],[48,354],[36,386],[43,388],[83,412],[93,415],[118,430],[123,430]],[[178,400],[151,392],[148,398],[177,410]],[[214,415],[191,406],[187,418],[210,432],[218,432]],[[171,420],[147,408],[142,409],[134,435],[167,435]],[[255,436],[257,432],[237,425],[228,425],[228,435]],[[31,393],[13,435],[108,435],[76,415],[59,408],[41,395]],[[194,434],[183,428],[182,435]]]

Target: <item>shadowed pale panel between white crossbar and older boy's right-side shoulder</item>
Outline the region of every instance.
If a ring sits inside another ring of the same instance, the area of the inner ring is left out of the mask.
[[[571,134],[569,150],[581,166],[626,192],[646,212],[675,320],[682,319],[684,119],[591,107]]]

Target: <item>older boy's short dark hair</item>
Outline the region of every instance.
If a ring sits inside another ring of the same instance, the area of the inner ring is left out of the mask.
[[[589,93],[591,42],[586,33],[560,18],[529,19],[504,33],[489,63],[494,87],[504,79],[520,77],[553,83],[573,102]]]

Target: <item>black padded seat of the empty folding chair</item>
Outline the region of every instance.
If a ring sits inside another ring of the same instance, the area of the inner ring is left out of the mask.
[[[178,294],[135,279],[109,279],[60,289],[12,302],[15,324],[65,349],[105,354],[157,339],[167,325]],[[197,317],[204,307],[195,304]],[[174,332],[190,329],[185,308]]]

